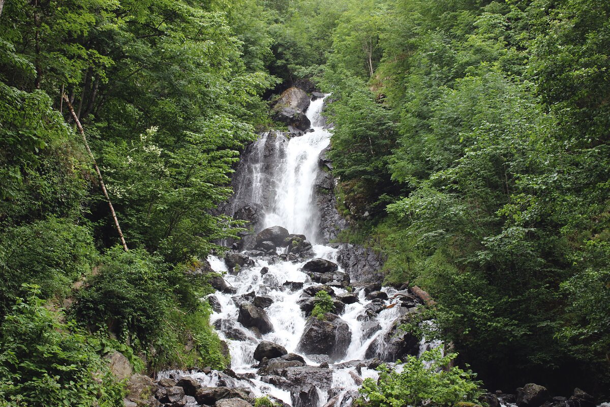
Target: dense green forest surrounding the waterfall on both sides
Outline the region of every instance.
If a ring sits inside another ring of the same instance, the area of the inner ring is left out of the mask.
[[[123,405],[115,351],[228,366],[201,259],[303,81],[337,240],[434,298],[425,334],[492,391],[609,395],[610,2],[0,0],[0,406]]]

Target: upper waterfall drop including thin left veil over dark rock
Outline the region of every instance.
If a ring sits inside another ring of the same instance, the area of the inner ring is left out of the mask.
[[[242,153],[232,179],[235,193],[223,211],[248,220],[255,234],[281,225],[312,243],[328,243],[345,228],[332,177],[321,169],[331,136],[322,115],[328,96],[309,103],[306,131],[262,133]],[[242,250],[248,244],[247,237],[239,242]]]

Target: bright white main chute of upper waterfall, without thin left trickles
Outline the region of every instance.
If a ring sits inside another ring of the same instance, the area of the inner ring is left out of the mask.
[[[318,240],[317,207],[314,202],[314,181],[318,174],[318,156],[330,143],[330,133],[322,127],[321,110],[324,99],[313,101],[307,109],[312,130],[292,137],[280,160],[276,174],[273,204],[265,214],[265,228],[281,225],[290,233],[304,234],[312,242]]]

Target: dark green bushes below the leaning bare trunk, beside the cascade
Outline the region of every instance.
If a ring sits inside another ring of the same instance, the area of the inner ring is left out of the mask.
[[[71,312],[93,330],[109,330],[123,343],[147,354],[151,367],[223,367],[221,342],[209,325],[209,307],[199,298],[210,292],[203,276],[172,267],[144,250],[120,247],[102,258],[98,273],[76,294]],[[192,342],[192,350],[185,344]]]

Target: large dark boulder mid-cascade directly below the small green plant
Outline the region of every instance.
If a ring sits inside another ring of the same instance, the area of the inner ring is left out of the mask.
[[[341,359],[350,345],[350,327],[337,315],[326,313],[325,318],[307,321],[297,349],[306,355],[328,355],[331,361]]]

